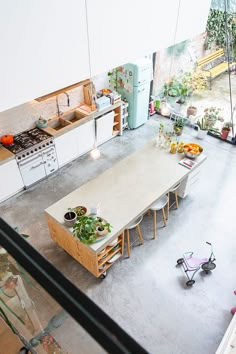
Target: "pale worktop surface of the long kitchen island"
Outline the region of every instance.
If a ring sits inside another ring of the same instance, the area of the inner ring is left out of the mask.
[[[116,163],[95,179],[82,185],[45,210],[61,227],[68,208],[84,205],[88,210],[99,205],[99,216],[112,226],[104,240],[88,247],[101,251],[117,237],[126,226],[142,215],[158,198],[196,169],[206,156],[201,154],[192,170],[178,164],[183,154],[170,154],[155,146],[152,140],[141,150]],[[72,228],[69,229],[72,232]]]

